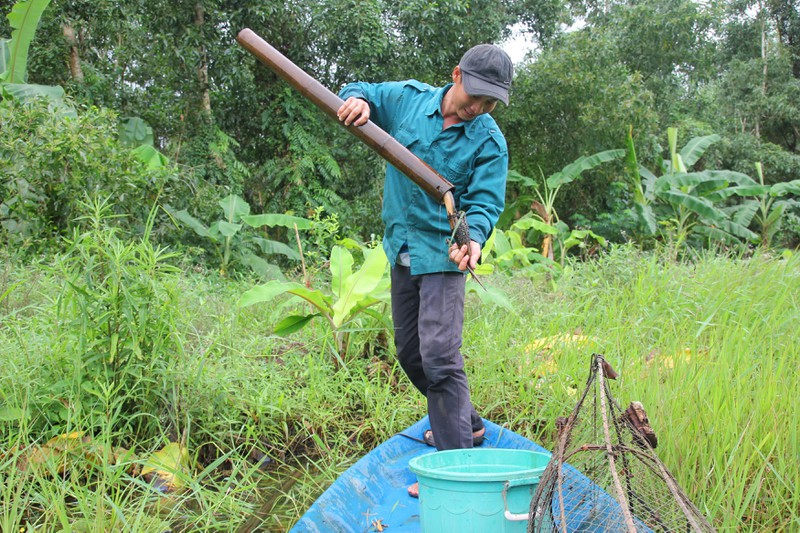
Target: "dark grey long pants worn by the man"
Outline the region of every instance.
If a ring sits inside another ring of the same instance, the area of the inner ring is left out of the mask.
[[[397,359],[428,398],[436,448],[472,448],[483,421],[469,398],[461,357],[466,277],[458,272],[412,276],[392,269],[392,319]]]

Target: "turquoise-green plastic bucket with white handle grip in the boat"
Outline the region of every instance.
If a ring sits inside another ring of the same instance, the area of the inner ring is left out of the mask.
[[[528,509],[550,455],[472,448],[414,457],[423,532],[512,533],[528,528]]]

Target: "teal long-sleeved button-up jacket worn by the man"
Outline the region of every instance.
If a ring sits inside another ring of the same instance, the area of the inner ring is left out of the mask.
[[[370,120],[455,186],[453,196],[467,214],[470,238],[483,245],[505,205],[508,148],[488,114],[442,130],[442,97],[451,86],[415,80],[351,83],[339,96],[369,102]],[[458,272],[448,256],[451,230],[444,206],[392,165],[386,168],[382,216],[383,248],[392,267],[407,245],[413,275]]]

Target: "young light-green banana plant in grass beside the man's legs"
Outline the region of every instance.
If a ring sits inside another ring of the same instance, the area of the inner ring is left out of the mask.
[[[364,263],[354,270],[353,255],[344,246],[334,246],[330,255],[330,291],[312,289],[297,282],[270,281],[244,293],[240,307],[272,302],[283,294],[306,301],[311,313],[292,313],[274,329],[276,335],[288,335],[305,327],[316,317],[325,319],[330,328],[336,356],[341,361],[348,345],[349,334],[357,328],[365,314],[388,325],[385,314],[372,309],[389,301],[389,261],[381,248],[361,247]]]

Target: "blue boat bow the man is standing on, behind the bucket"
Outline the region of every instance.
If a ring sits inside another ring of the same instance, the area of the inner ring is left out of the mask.
[[[548,453],[513,431],[484,420],[481,447]],[[420,531],[419,500],[408,495],[416,481],[408,462],[435,452],[422,434],[430,428],[425,417],[393,436],[344,472],[290,530],[291,533],[390,533]],[[385,527],[388,526],[388,527]]]

